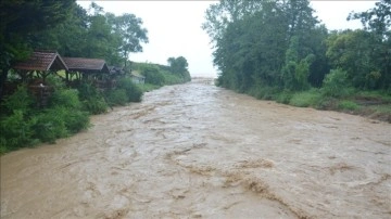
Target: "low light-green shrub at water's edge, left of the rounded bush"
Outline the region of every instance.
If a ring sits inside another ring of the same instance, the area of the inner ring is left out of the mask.
[[[290,105],[299,107],[316,107],[321,102],[321,93],[317,89],[294,93],[289,101]]]

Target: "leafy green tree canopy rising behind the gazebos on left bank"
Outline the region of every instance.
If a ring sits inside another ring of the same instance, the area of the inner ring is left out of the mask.
[[[96,3],[87,11],[75,0],[2,0],[0,11],[0,96],[10,66],[33,50],[126,65],[129,54],[142,51],[141,43],[148,42],[141,18],[104,13]]]

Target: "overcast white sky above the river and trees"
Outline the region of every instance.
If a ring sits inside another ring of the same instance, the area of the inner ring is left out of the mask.
[[[217,1],[96,1],[105,12],[116,15],[133,13],[143,21],[149,43],[143,52],[130,54],[136,62],[167,64],[171,56],[182,55],[189,63],[191,76],[216,77],[207,34],[201,28],[204,12]],[[351,11],[362,12],[376,1],[312,1],[318,18],[328,29],[361,28],[358,21],[346,22]],[[91,1],[77,1],[88,9]]]

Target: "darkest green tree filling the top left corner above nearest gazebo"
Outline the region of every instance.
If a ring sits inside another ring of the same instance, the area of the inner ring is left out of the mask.
[[[33,50],[31,34],[63,23],[74,4],[75,0],[0,1],[0,100],[9,68]]]

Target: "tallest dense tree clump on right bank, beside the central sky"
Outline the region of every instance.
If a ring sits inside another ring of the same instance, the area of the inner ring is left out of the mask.
[[[214,64],[222,72],[218,85],[248,92],[262,86],[306,90],[310,82],[319,82],[327,69],[321,55],[327,29],[316,26],[308,1],[245,5],[248,1],[220,1],[206,12],[204,28],[215,37]],[[244,11],[238,15],[231,9]],[[226,16],[232,20],[217,18]]]

